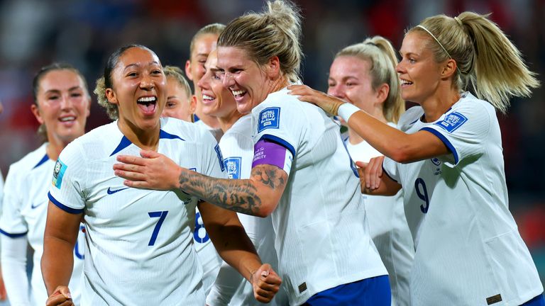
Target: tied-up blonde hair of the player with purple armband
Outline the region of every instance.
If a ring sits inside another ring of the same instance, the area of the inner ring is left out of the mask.
[[[301,44],[301,16],[291,2],[268,1],[263,13],[246,13],[233,19],[219,35],[218,45],[241,47],[258,65],[271,57],[280,60],[280,71],[288,80],[299,80],[299,66],[303,57]]]

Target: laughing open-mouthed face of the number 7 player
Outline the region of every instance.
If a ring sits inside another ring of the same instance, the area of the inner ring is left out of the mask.
[[[113,88],[106,89],[106,97],[118,106],[122,130],[159,127],[167,100],[167,79],[157,55],[140,47],[125,50],[111,72],[111,81]]]

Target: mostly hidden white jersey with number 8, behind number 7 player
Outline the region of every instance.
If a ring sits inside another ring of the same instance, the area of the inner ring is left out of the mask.
[[[194,123],[199,128],[204,128],[212,133],[216,141],[219,142],[221,135],[224,135],[224,132],[221,129],[214,129],[202,120]],[[223,260],[216,251],[214,244],[212,244],[210,237],[207,234],[207,230],[204,228],[204,223],[202,222],[201,213],[199,208],[196,208],[195,215],[195,229],[193,233],[195,250],[197,251],[197,257],[199,262],[202,264],[202,284],[204,288],[204,295],[208,295],[212,285],[214,285],[214,280],[218,275],[219,268]]]

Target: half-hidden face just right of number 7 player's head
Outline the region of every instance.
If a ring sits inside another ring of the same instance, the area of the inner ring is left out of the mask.
[[[191,122],[191,114],[189,94],[175,77],[167,77],[167,104],[162,116]]]

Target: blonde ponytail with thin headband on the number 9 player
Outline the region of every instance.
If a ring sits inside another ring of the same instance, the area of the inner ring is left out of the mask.
[[[425,35],[434,38],[428,47],[436,62],[449,57],[456,61],[458,89],[465,90],[471,84],[478,98],[506,113],[510,97],[530,96],[539,81],[524,64],[517,47],[488,16],[463,12],[451,18],[441,14],[424,19],[407,33],[428,32]]]

